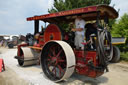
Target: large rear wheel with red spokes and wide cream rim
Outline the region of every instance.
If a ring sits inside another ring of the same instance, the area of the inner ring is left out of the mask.
[[[52,81],[69,78],[74,72],[75,55],[64,41],[49,41],[41,53],[41,66],[44,74]]]

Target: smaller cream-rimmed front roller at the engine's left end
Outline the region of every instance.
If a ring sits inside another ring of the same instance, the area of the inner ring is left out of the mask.
[[[15,58],[18,60],[20,66],[30,66],[37,64],[39,53],[28,47],[21,47],[18,51],[18,56]]]

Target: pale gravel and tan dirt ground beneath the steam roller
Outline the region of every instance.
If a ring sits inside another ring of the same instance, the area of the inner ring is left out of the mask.
[[[109,65],[109,71],[96,79],[73,74],[69,79],[54,83],[48,80],[40,66],[19,67],[14,59],[16,49],[0,48],[6,71],[0,73],[0,85],[128,85],[128,64]]]

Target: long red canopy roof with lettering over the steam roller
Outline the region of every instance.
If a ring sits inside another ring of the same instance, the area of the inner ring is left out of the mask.
[[[104,19],[106,15],[108,16],[109,19],[115,19],[118,17],[118,12],[113,7],[108,5],[96,5],[96,6],[88,6],[73,10],[28,17],[27,21],[42,20],[44,22],[49,22],[49,23],[71,22],[77,17],[77,15],[81,15],[85,21],[90,21],[97,19],[98,12],[100,12],[100,19]]]

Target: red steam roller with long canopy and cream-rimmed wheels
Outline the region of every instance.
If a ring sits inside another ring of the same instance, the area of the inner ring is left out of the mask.
[[[84,50],[75,49],[73,40],[69,40],[74,35],[69,35],[69,32],[66,35],[65,31],[57,26],[60,23],[73,22],[77,15],[81,15],[86,22],[96,21],[98,26],[96,34],[89,35],[90,39],[81,43],[85,47]],[[107,28],[108,19],[117,17],[118,13],[106,5],[29,17],[27,21],[34,20],[35,33],[28,34],[26,43],[18,45],[15,58],[20,66],[40,62],[44,74],[55,82],[70,77],[74,71],[93,78],[101,76],[104,71],[108,71],[107,65],[113,55],[111,35]],[[39,21],[50,24],[44,31],[39,32]],[[95,48],[88,49],[93,45]]]

